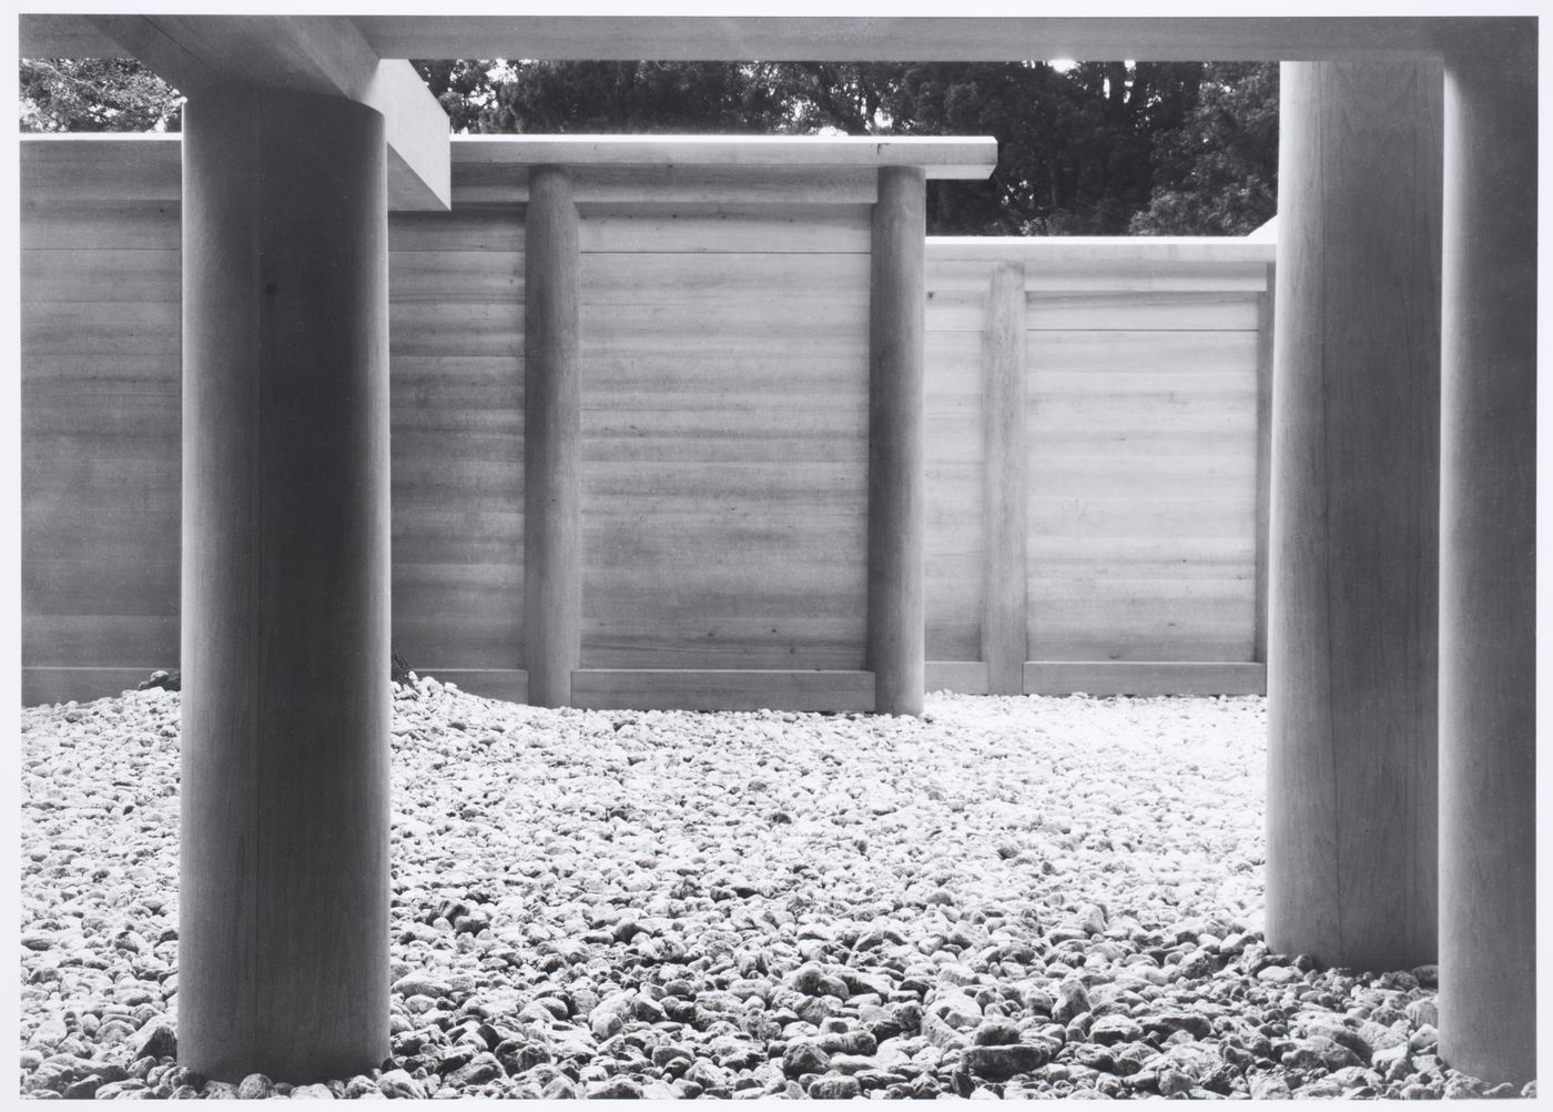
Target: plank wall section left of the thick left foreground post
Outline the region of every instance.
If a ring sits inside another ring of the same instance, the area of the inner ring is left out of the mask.
[[[177,666],[179,162],[165,152],[39,144],[22,160],[28,704]]]

